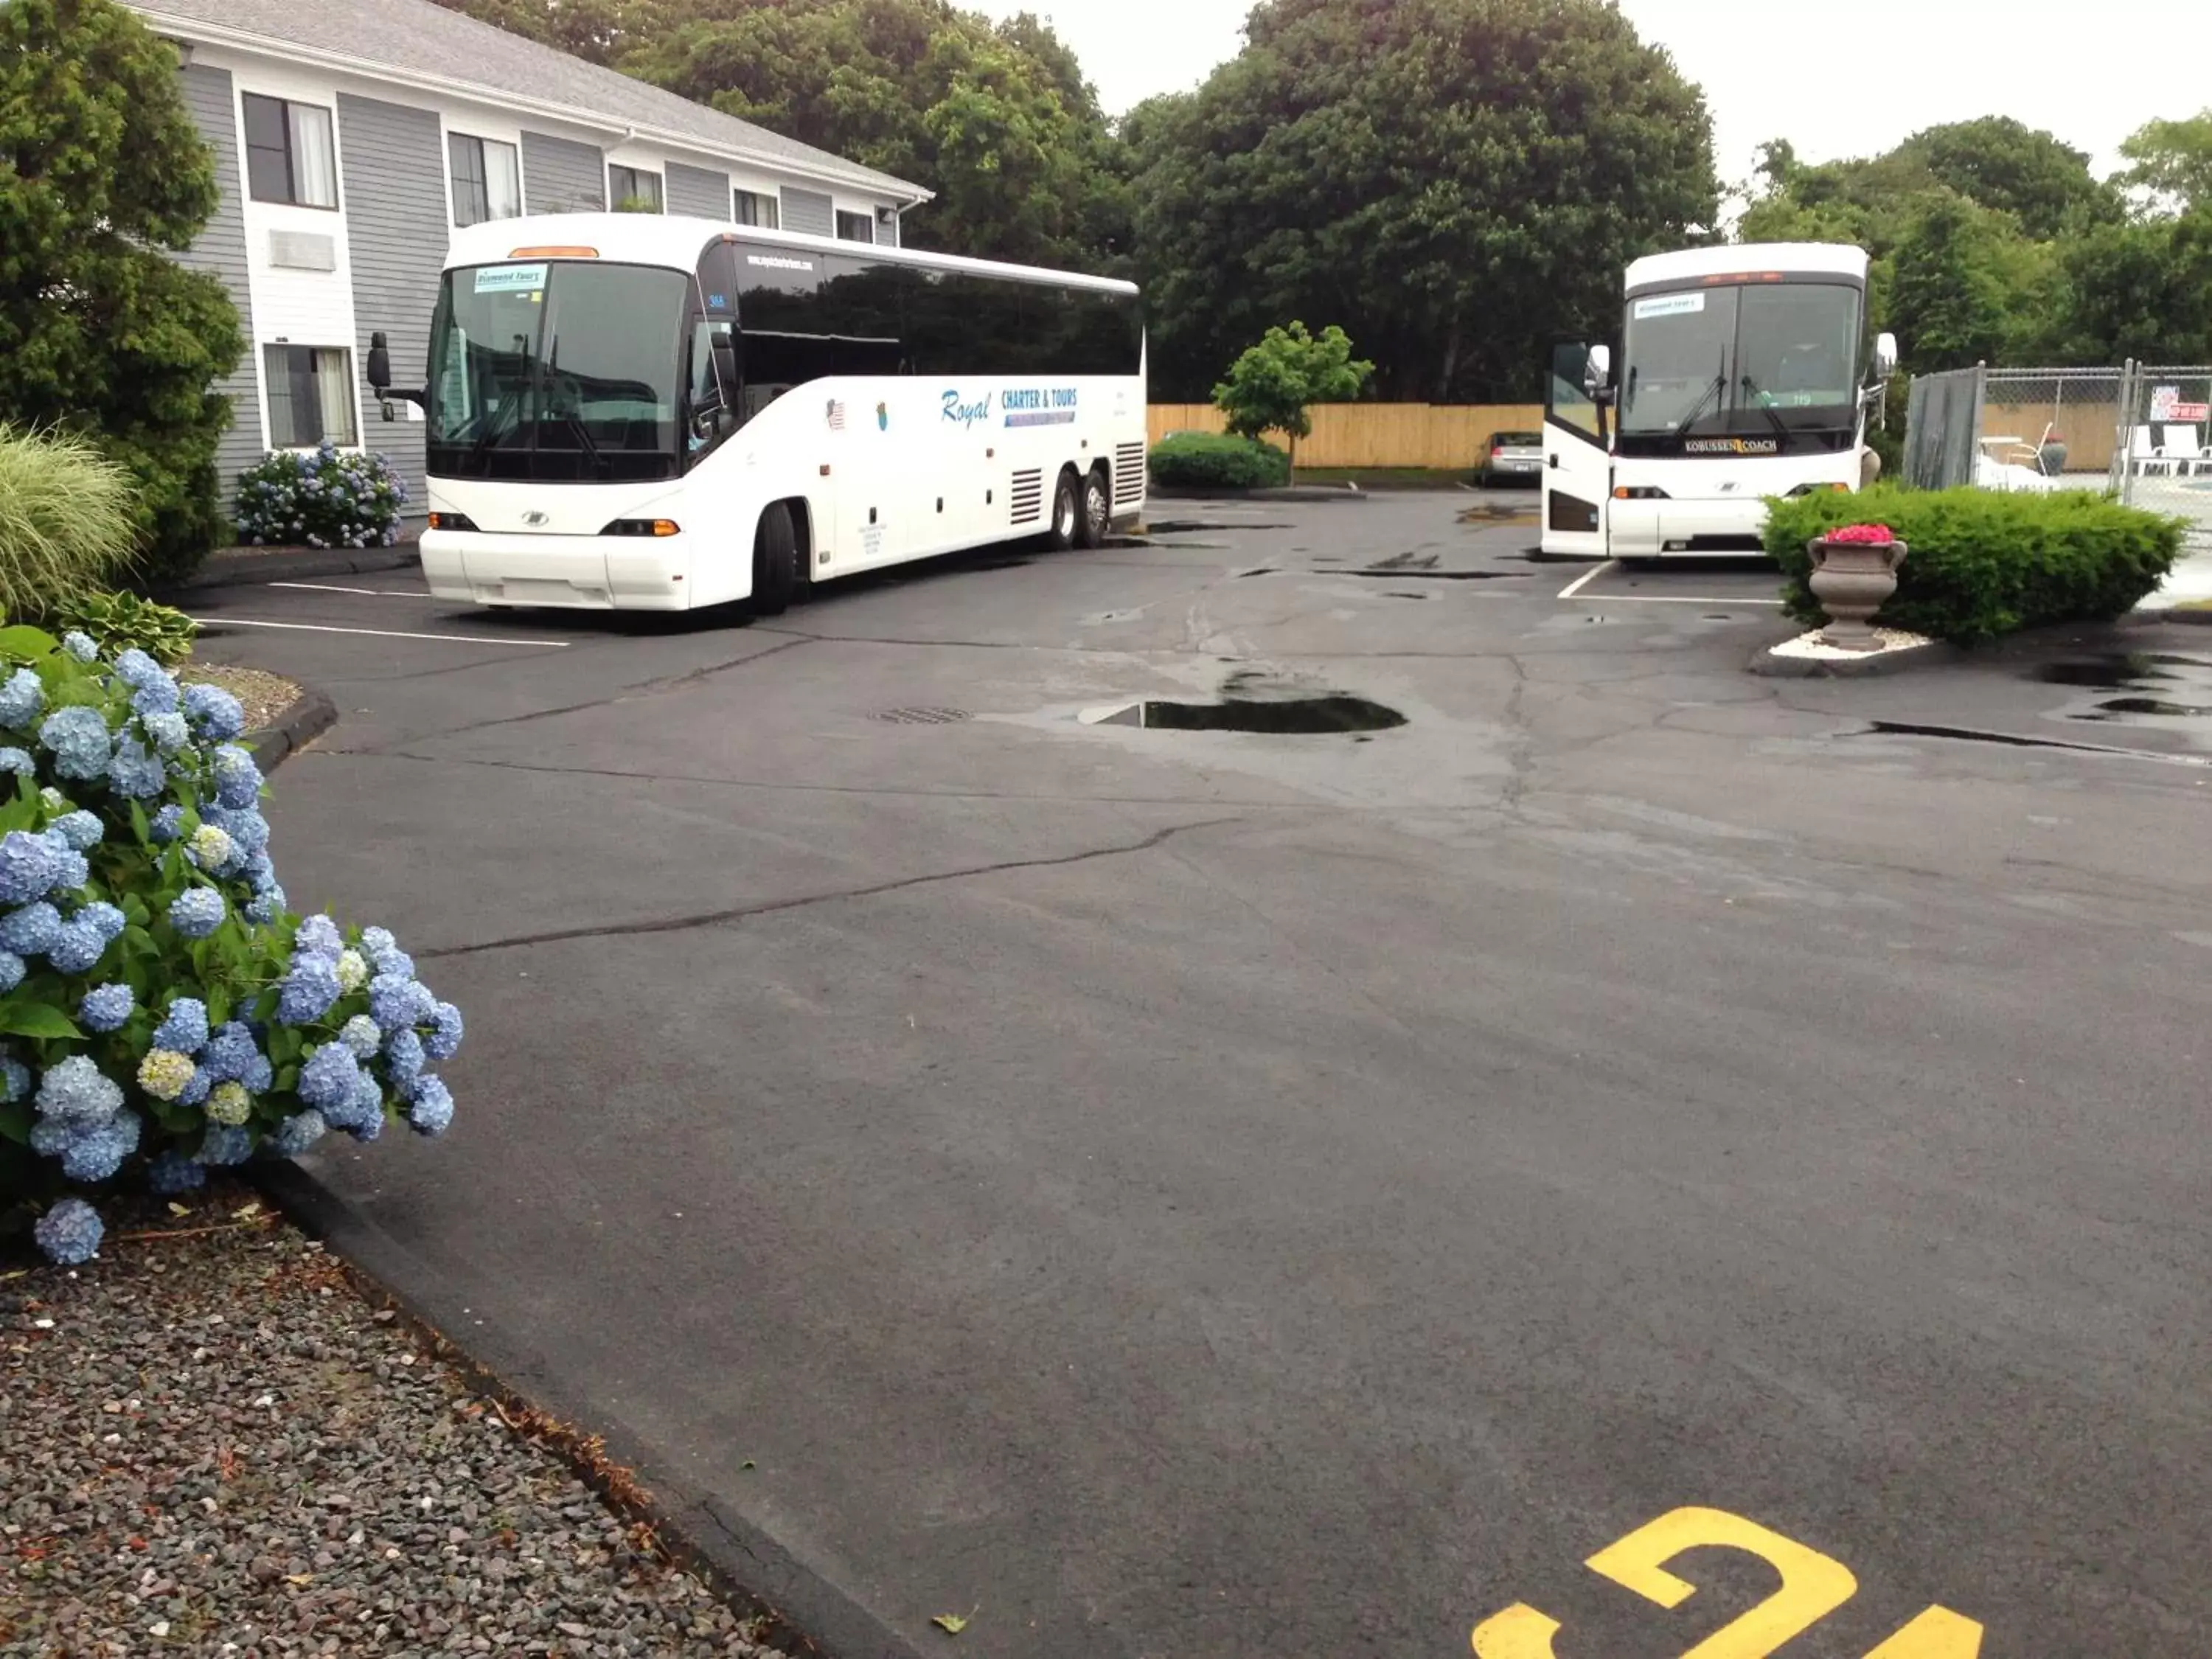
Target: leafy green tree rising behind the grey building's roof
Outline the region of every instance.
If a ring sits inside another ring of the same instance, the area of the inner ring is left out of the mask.
[[[993,29],[947,0],[679,7],[661,0],[619,66],[933,190],[909,223],[916,246],[1086,270],[1124,254],[1113,135],[1075,55],[1035,18]]]

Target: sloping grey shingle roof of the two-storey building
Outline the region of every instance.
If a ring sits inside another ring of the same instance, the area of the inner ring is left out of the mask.
[[[655,128],[697,144],[708,155],[759,157],[814,179],[836,179],[894,197],[922,197],[920,186],[847,161],[812,144],[770,133],[641,80],[586,64],[553,46],[511,35],[434,0],[131,0],[148,24],[195,38],[195,24],[243,33],[310,53],[361,60],[365,73],[392,69],[422,75],[491,104],[515,97],[560,104],[599,124]]]

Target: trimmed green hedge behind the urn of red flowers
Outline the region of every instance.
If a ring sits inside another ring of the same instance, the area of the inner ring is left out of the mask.
[[[2081,489],[1876,484],[1770,500],[1765,546],[1783,566],[1783,604],[1798,622],[1823,619],[1805,542],[1845,524],[1887,524],[1911,546],[1876,622],[1958,644],[2126,615],[2181,555],[2181,520]]]

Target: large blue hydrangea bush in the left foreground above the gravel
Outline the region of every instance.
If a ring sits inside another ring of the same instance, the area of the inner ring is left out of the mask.
[[[285,909],[241,726],[144,650],[0,628],[0,1223],[53,1261],[106,1192],[453,1119],[460,1011],[389,931]]]

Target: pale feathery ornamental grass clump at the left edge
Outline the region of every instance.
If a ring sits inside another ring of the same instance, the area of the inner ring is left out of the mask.
[[[0,427],[0,613],[40,617],[131,562],[131,476],[84,438]]]

